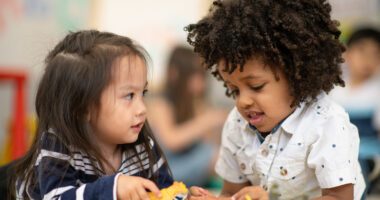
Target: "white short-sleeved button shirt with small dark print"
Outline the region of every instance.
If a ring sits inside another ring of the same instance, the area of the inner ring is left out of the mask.
[[[261,144],[234,108],[225,123],[216,172],[226,181],[261,185],[279,199],[314,198],[321,188],[365,183],[358,162],[359,137],[342,107],[321,94],[302,103]]]

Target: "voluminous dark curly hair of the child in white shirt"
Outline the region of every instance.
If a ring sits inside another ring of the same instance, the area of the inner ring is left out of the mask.
[[[335,84],[344,86],[339,66],[344,46],[330,12],[326,0],[216,0],[206,17],[185,30],[217,78],[213,66],[221,59],[232,73],[259,56],[274,73],[285,73],[293,105],[299,105]]]

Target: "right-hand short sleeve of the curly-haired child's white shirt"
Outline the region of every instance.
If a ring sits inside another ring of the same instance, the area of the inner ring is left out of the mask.
[[[321,132],[311,145],[307,164],[315,169],[321,188],[355,184],[359,136],[348,117],[332,116],[320,124]]]

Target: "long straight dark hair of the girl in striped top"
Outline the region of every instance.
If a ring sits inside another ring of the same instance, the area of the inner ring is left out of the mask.
[[[74,147],[88,154],[94,166],[97,161],[103,161],[99,162],[101,168],[104,167],[102,163],[110,166],[100,149],[92,143],[92,132],[86,116],[90,108],[99,109],[101,93],[111,82],[116,62],[124,56],[138,57],[148,64],[147,52],[128,37],[96,30],[69,33],[48,54],[35,102],[38,118],[36,137],[30,150],[18,161],[12,186],[16,185],[18,178],[32,187],[38,185],[34,163],[46,138],[43,135],[50,128],[56,136],[53,137],[55,141],[51,141],[51,137],[49,139],[52,148],[61,146],[61,150],[70,150]],[[121,145],[121,148],[137,155],[136,144],[143,144],[152,170],[157,155],[152,150],[150,140],[155,142],[148,122],[145,122],[137,141]],[[59,144],[63,144],[63,147]],[[155,142],[155,145],[158,143]],[[158,146],[155,148],[162,154]],[[73,155],[71,151],[67,153]],[[137,158],[140,159],[139,156]],[[143,167],[141,160],[140,164]],[[99,176],[102,173],[97,172]],[[157,174],[153,171],[149,174],[158,183]],[[26,194],[23,195],[28,198]]]

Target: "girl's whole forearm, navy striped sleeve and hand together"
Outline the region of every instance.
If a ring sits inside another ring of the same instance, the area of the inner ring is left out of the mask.
[[[159,194],[157,186],[148,179],[121,173],[98,178],[85,162],[82,167],[78,163],[74,167],[68,156],[56,154],[42,157],[35,167],[41,199],[146,199],[147,191]],[[163,184],[170,182],[171,177],[167,178]]]

